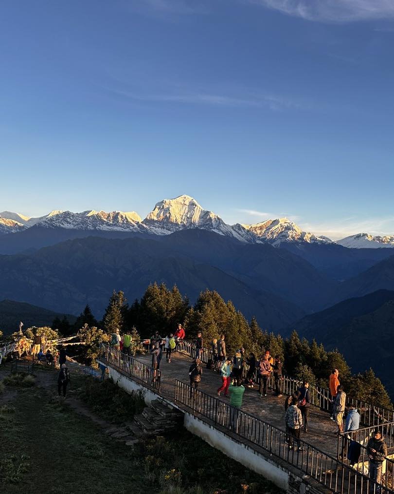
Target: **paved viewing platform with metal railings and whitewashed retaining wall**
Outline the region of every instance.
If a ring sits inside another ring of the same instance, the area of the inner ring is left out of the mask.
[[[228,397],[217,396],[222,382],[220,374],[204,365],[198,390],[190,388],[188,372],[193,351],[185,355],[187,351],[183,349],[182,353],[174,352],[171,363],[166,362],[163,355],[159,371],[152,369],[151,355],[127,357],[107,345],[102,345],[98,360],[108,367],[109,375],[121,387],[127,391],[145,390],[145,401],[163,397],[169,406],[184,413],[184,426],[188,430],[289,493],[394,493],[394,462],[390,459],[394,451],[394,420],[388,420],[392,418],[392,411],[368,404],[360,407],[360,428],[363,428],[358,437],[353,438],[360,443],[360,456],[352,466],[346,459],[352,438],[345,434],[338,439],[337,425],[327,412],[329,403],[325,391],[311,388],[311,401],[315,404],[310,406],[308,432],[301,431],[301,448],[297,451],[287,444],[284,403],[287,394],[297,389],[299,381],[285,377],[282,397],[275,396],[272,389],[268,389],[266,397],[260,397],[257,384],[253,388],[246,387],[239,412],[229,405]],[[134,382],[131,386],[130,381]],[[368,422],[371,425],[364,427]],[[382,485],[368,477],[365,449],[376,426],[389,447]]]

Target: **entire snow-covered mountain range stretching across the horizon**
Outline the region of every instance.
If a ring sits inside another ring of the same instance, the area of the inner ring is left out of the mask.
[[[287,218],[269,219],[253,225],[240,223],[228,225],[220,216],[203,209],[195,199],[186,195],[160,201],[144,220],[135,211],[90,210],[74,213],[54,210],[38,218],[30,218],[11,211],[0,212],[0,234],[15,233],[34,225],[45,228],[139,232],[154,235],[169,235],[179,230],[200,228],[248,244],[269,243],[275,247],[279,247],[284,242],[320,245],[335,243],[327,237],[304,232]],[[394,236],[372,237],[360,233],[336,243],[350,248],[394,247]]]

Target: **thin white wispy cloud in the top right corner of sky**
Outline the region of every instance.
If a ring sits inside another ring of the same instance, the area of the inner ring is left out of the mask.
[[[393,0],[250,0],[309,21],[354,22],[394,18]]]

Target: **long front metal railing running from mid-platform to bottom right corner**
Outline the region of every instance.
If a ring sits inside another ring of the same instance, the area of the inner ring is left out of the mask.
[[[215,428],[233,435],[244,444],[251,444],[256,451],[262,449],[301,470],[304,474],[341,494],[388,494],[392,489],[377,484],[365,473],[322,452],[305,441],[292,438],[285,432],[250,413],[231,407],[189,385],[175,382],[175,401],[194,415],[212,422]],[[298,448],[289,448],[289,442]]]

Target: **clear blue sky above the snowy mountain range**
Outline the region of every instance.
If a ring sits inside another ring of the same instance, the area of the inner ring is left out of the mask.
[[[391,0],[4,0],[0,210],[394,233]]]

